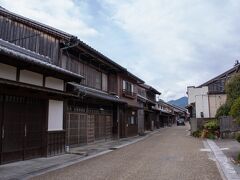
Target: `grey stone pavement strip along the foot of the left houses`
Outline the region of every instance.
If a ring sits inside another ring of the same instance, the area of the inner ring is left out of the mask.
[[[164,129],[160,129],[163,131]],[[59,168],[64,168],[72,164],[94,158],[111,152],[115,149],[141,141],[159,130],[151,131],[146,136],[135,136],[123,138],[119,141],[103,141],[79,148],[71,148],[70,153],[49,158],[37,158],[26,161],[14,162],[0,166],[0,179],[28,179],[36,175],[47,173]]]

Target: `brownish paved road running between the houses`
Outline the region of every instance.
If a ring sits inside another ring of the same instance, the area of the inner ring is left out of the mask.
[[[34,179],[177,179],[218,180],[200,139],[187,136],[187,127],[162,129],[151,137]]]

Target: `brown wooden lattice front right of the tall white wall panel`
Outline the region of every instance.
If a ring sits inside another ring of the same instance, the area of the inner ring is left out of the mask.
[[[99,110],[83,104],[71,106],[66,122],[67,145],[74,147],[112,138],[113,111],[110,107]]]

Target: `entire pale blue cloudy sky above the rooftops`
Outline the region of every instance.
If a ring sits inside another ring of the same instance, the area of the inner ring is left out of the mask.
[[[77,35],[162,92],[186,95],[240,59],[239,0],[1,0]]]

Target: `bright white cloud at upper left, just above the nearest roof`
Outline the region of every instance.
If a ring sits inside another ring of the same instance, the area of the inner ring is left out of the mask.
[[[74,0],[2,0],[0,5],[82,39],[98,35],[98,31],[87,23],[92,17],[88,15],[85,1],[76,4]]]

